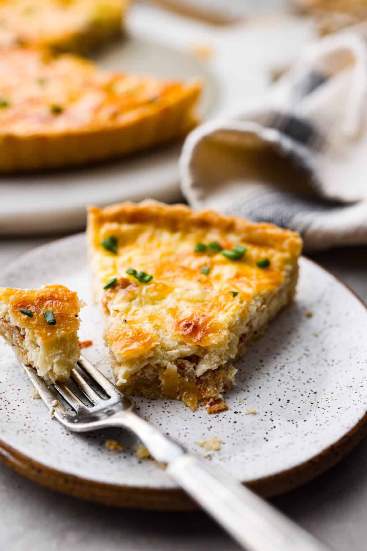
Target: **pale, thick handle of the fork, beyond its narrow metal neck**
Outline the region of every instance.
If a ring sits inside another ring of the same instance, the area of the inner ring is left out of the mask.
[[[167,474],[248,551],[330,551],[253,491],[195,455],[173,460]]]

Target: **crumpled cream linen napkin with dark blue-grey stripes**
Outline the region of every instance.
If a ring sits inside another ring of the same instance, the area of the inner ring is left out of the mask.
[[[192,207],[297,230],[305,250],[367,244],[361,29],[306,48],[269,92],[191,132],[180,175]]]

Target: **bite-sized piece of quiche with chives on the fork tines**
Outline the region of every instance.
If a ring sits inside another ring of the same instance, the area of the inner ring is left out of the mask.
[[[0,288],[0,334],[23,364],[45,379],[66,381],[80,356],[79,310],[83,303],[63,285]]]

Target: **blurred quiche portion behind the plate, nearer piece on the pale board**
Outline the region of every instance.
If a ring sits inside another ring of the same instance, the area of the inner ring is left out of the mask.
[[[0,51],[0,172],[121,157],[183,137],[198,82],[100,71],[74,55]]]

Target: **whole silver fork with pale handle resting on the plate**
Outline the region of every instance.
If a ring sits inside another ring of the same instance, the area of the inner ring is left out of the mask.
[[[166,467],[169,477],[248,551],[327,551],[325,545],[226,472],[186,452],[134,413],[132,398],[121,392],[84,356],[78,364],[105,391],[107,398],[102,398],[79,371],[73,369],[72,380],[91,403],[90,407],[65,383],[53,386],[75,414],[69,413],[60,401],[56,406],[55,395],[45,381],[34,368],[23,364],[43,402],[63,426],[77,433],[110,426],[133,431],[152,457]]]

